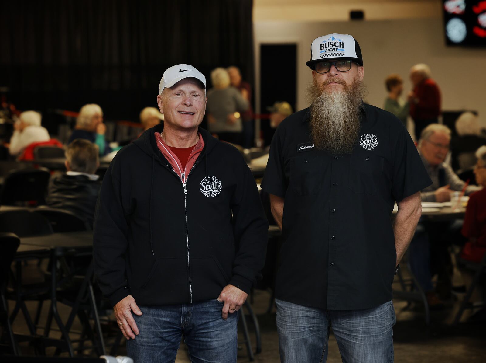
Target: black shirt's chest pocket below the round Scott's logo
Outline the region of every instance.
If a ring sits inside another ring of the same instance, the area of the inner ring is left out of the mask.
[[[349,188],[354,193],[378,195],[383,172],[383,158],[375,155],[351,155]]]

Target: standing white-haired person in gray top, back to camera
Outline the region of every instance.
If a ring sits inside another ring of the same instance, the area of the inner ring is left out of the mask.
[[[241,113],[248,109],[245,100],[236,88],[230,86],[229,74],[224,68],[211,72],[213,88],[208,91],[208,129],[220,140],[243,145]]]

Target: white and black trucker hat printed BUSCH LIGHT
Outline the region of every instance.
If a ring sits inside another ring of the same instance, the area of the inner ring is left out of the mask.
[[[306,66],[314,69],[314,64],[326,59],[346,58],[363,65],[361,48],[355,38],[349,34],[328,34],[319,36],[311,44],[311,60]]]

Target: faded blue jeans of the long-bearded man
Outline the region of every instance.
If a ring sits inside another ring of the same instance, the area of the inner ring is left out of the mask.
[[[330,327],[344,363],[393,362],[391,301],[363,310],[309,308],[278,299],[276,303],[282,363],[326,362]]]

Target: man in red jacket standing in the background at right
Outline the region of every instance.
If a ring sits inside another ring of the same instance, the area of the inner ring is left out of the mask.
[[[438,124],[440,115],[440,89],[431,78],[428,65],[420,63],[410,69],[410,80],[414,87],[408,95],[410,116],[415,123],[415,138],[430,124]]]

